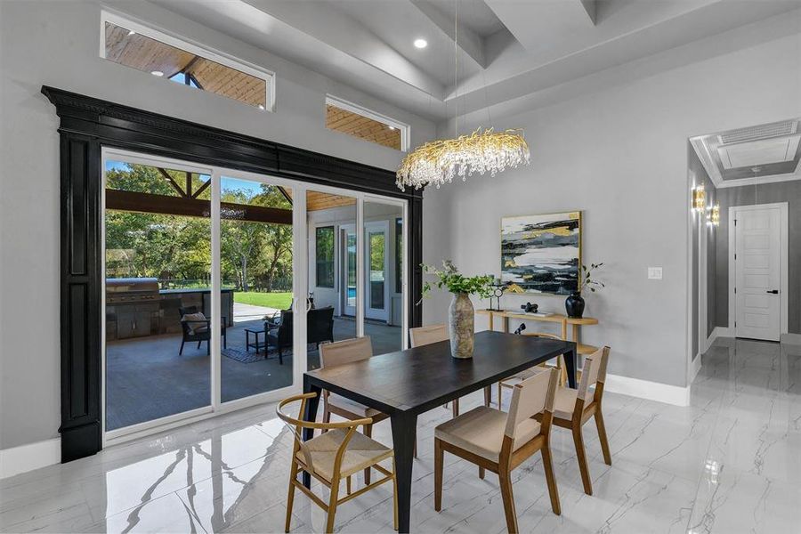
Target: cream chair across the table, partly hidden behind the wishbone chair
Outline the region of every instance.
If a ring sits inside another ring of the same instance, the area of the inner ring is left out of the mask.
[[[370,336],[320,344],[320,368],[336,367],[353,361],[368,360],[372,357],[373,344]],[[377,409],[323,390],[323,423],[331,421],[331,414],[351,420],[369,417],[370,423],[364,425],[364,435],[368,437],[373,435],[373,425],[389,417]],[[370,483],[369,467],[364,470],[364,483]]]

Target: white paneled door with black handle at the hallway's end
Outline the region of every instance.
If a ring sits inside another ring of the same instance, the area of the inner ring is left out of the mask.
[[[734,335],[779,341],[781,210],[740,211],[734,220]]]

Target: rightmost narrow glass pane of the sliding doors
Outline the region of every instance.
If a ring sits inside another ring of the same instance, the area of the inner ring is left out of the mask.
[[[402,348],[402,214],[401,206],[373,200],[364,203],[367,268],[364,333],[370,336],[374,354]]]

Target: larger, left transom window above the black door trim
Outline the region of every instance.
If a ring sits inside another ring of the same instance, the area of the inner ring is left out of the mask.
[[[103,12],[101,57],[258,109],[273,109],[275,75]]]

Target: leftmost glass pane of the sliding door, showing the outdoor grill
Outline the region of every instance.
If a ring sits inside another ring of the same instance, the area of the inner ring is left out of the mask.
[[[106,165],[106,430],[208,406],[210,177]]]

